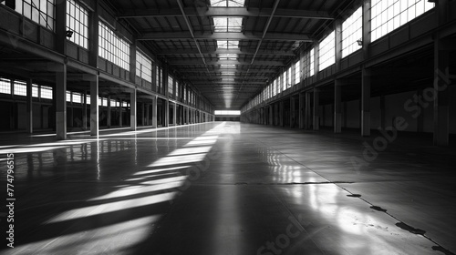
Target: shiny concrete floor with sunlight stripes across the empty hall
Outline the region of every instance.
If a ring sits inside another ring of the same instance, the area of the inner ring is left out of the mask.
[[[0,252],[456,252],[456,149],[389,135],[214,122],[1,136],[16,201],[15,248]]]

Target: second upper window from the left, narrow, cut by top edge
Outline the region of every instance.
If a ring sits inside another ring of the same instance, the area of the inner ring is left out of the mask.
[[[67,29],[73,31],[69,41],[88,48],[88,11],[75,0],[67,2]]]

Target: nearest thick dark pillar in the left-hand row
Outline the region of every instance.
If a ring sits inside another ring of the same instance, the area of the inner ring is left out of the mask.
[[[57,139],[67,139],[67,64],[56,73],[56,132]]]

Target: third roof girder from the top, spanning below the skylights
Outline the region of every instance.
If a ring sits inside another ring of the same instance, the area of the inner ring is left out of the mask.
[[[202,54],[244,54],[244,55],[254,55],[254,50],[246,49],[202,49]],[[181,54],[200,54],[198,49],[168,49],[163,50],[157,55],[181,55]],[[296,56],[296,54],[289,50],[260,50],[257,55],[275,55],[275,56]]]

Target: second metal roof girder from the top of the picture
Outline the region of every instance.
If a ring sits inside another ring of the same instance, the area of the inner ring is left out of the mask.
[[[267,33],[262,36],[253,32],[216,32],[216,33],[194,33],[196,40],[266,40],[266,41],[302,41],[313,42],[314,40],[306,34],[293,33]],[[144,32],[138,36],[140,41],[169,41],[169,40],[191,40],[190,32]]]

